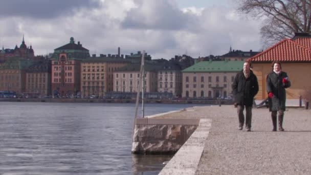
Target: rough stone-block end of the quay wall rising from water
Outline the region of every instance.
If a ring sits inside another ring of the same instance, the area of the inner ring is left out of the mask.
[[[174,154],[188,140],[199,119],[137,118],[133,154]]]

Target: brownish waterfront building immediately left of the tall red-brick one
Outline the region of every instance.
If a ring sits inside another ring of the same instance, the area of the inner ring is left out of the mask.
[[[29,97],[51,95],[51,63],[48,60],[37,61],[26,71],[26,91]]]

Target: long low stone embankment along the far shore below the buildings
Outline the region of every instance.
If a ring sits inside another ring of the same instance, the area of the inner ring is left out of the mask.
[[[0,98],[0,102],[58,102],[58,103],[135,103],[135,99],[84,99],[84,98]],[[140,100],[141,102],[141,100]],[[165,104],[219,104],[218,100],[210,99],[146,99],[144,103]],[[233,104],[230,100],[221,100],[221,104]]]

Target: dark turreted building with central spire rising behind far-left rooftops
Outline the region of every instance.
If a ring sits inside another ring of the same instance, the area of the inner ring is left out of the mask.
[[[0,62],[12,59],[12,58],[27,58],[27,59],[33,59],[34,51],[32,49],[32,46],[27,47],[24,36],[23,41],[21,41],[21,44],[19,48],[17,45],[14,49],[5,49],[4,46],[2,47],[2,50],[0,51]]]

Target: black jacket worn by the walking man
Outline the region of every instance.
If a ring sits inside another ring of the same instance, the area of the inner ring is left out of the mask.
[[[232,91],[234,102],[239,105],[253,106],[254,97],[258,93],[258,81],[253,71],[247,79],[243,70],[237,73],[232,84]]]

